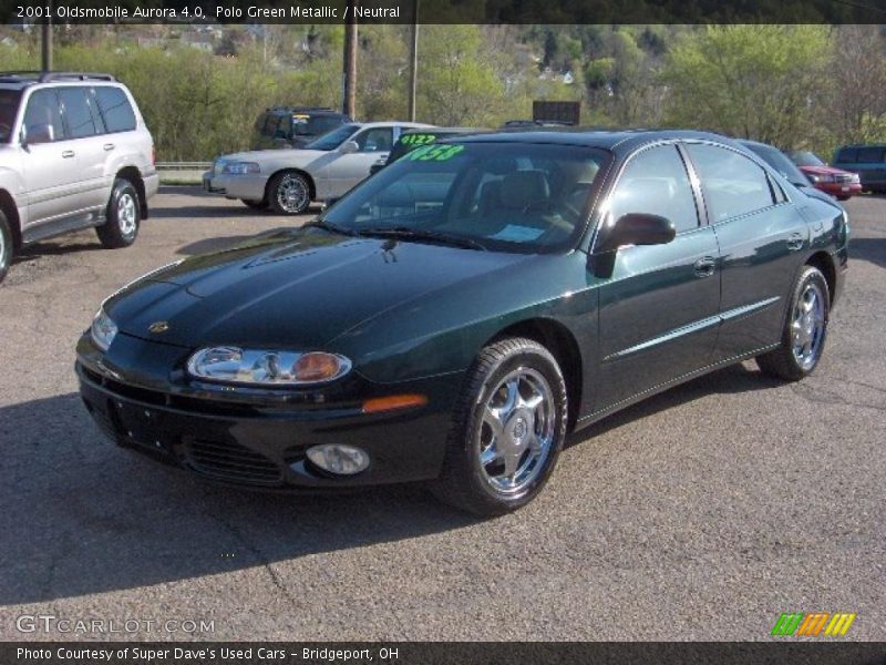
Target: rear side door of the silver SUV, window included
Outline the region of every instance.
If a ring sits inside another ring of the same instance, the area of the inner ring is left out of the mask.
[[[62,117],[76,154],[75,201],[71,212],[96,212],[110,195],[106,162],[115,144],[104,136],[104,123],[92,91],[84,85],[59,88]]]

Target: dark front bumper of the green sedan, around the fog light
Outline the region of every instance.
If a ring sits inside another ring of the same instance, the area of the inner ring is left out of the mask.
[[[143,380],[147,365],[187,350],[124,341],[133,348],[121,356],[137,357],[142,365],[127,376],[114,362],[102,361],[87,335],[78,345],[75,366],[87,411],[123,448],[208,480],[265,490],[324,491],[427,480],[440,473],[461,375],[395,387],[356,378],[367,395],[423,391],[429,398],[424,407],[383,413],[364,413],[353,400],[286,407],[278,399],[274,406],[262,405],[255,396],[238,397],[231,390],[214,400],[172,385],[168,390],[145,387],[153,382]],[[168,376],[168,370],[157,376],[163,374]],[[321,443],[357,446],[369,454],[370,466],[354,475],[324,472],[306,457],[310,447]]]

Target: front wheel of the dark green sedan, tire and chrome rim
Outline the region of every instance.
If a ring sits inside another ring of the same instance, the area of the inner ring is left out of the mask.
[[[566,422],[566,383],[550,351],[532,339],[496,341],[468,372],[431,490],[484,518],[517,510],[554,470]]]

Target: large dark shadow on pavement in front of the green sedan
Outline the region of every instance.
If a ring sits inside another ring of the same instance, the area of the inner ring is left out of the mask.
[[[76,393],[0,408],[0,605],[268,566],[460,529],[420,485],[336,495],[199,481],[120,449]]]

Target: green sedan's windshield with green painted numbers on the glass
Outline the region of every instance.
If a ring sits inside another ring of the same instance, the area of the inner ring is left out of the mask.
[[[418,147],[320,218],[341,233],[502,252],[574,246],[609,153],[532,143]]]

